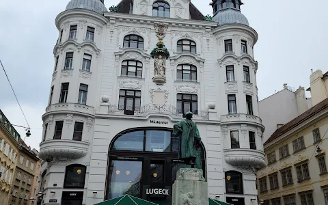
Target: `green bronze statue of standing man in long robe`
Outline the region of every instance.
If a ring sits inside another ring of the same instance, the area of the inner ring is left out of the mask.
[[[186,119],[174,124],[173,135],[179,138],[178,159],[187,165],[195,165],[196,150],[200,147],[200,133],[193,120],[193,113],[187,112]]]

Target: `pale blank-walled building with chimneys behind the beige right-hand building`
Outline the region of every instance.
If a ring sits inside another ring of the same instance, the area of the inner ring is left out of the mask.
[[[295,91],[292,87],[284,84],[284,90],[264,98],[258,103],[258,107],[262,124],[265,127],[263,140],[267,141],[277,128],[312,107],[312,102],[311,98],[305,97],[304,87],[299,87]]]

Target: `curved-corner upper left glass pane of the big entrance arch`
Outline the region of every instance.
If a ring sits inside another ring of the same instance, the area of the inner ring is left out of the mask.
[[[143,151],[143,131],[126,133],[116,139],[113,150]]]

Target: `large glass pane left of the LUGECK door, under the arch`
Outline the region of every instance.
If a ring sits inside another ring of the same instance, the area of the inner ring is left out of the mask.
[[[120,170],[120,174],[116,173],[118,170]],[[141,172],[141,161],[111,161],[107,199],[113,199],[125,194],[141,198]]]

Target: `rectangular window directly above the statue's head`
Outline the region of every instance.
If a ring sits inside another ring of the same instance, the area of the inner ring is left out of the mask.
[[[176,109],[178,113],[187,113],[187,111],[198,114],[198,98],[195,94],[177,94]]]

